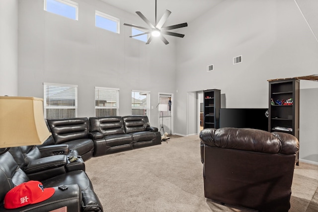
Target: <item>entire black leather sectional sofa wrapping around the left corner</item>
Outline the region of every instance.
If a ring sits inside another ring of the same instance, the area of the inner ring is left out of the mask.
[[[158,128],[147,116],[110,116],[46,120],[52,136],[39,146],[11,147],[0,155],[0,211],[52,211],[67,206],[68,212],[103,212],[102,205],[85,173],[84,161],[123,150],[161,144]],[[70,162],[71,156],[79,156]],[[29,180],[54,187],[46,201],[6,210],[5,194]],[[58,187],[66,185],[67,190]]]

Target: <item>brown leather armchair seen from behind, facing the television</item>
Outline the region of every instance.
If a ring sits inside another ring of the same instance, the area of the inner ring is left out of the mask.
[[[299,141],[287,133],[204,129],[204,195],[264,212],[288,212]]]

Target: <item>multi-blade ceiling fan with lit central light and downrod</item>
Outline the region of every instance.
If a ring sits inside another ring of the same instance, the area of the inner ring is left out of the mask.
[[[169,32],[168,30],[178,29],[178,28],[181,28],[181,27],[186,27],[186,26],[188,26],[187,23],[180,23],[180,24],[176,24],[176,25],[163,27],[165,21],[167,20],[167,18],[171,14],[171,12],[169,10],[166,9],[164,11],[162,17],[160,18],[160,20],[157,22],[157,0],[156,0],[155,25],[153,25],[141,12],[137,11],[136,13],[149,25],[150,28],[124,23],[125,26],[131,26],[131,27],[147,30],[147,32],[145,32],[145,33],[141,33],[141,34],[138,34],[138,35],[132,35],[132,36],[129,36],[129,37],[132,38],[132,37],[137,37],[137,36],[140,36],[140,35],[150,34],[150,37],[149,37],[149,39],[148,39],[146,44],[150,44],[150,42],[152,41],[153,37],[159,37],[163,41],[163,43],[165,45],[167,45],[169,42],[163,37],[163,35],[171,35],[171,36],[180,37],[180,38],[184,37],[183,34],[179,34],[179,33],[175,33],[175,32]]]

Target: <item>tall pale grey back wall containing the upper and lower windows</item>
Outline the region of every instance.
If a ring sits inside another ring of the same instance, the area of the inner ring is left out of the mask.
[[[150,121],[158,124],[158,93],[172,93],[175,42],[150,45],[129,38],[144,26],[132,15],[99,0],[79,2],[79,20],[43,10],[43,0],[19,0],[19,75],[21,96],[43,97],[43,82],[78,85],[78,116],[94,116],[94,87],[120,89],[120,115],[131,114],[131,91],[151,91]],[[95,9],[120,18],[120,34],[95,27]]]

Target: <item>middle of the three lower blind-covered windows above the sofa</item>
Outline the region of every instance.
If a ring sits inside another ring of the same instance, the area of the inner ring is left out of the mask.
[[[119,89],[95,87],[95,116],[119,116]]]

